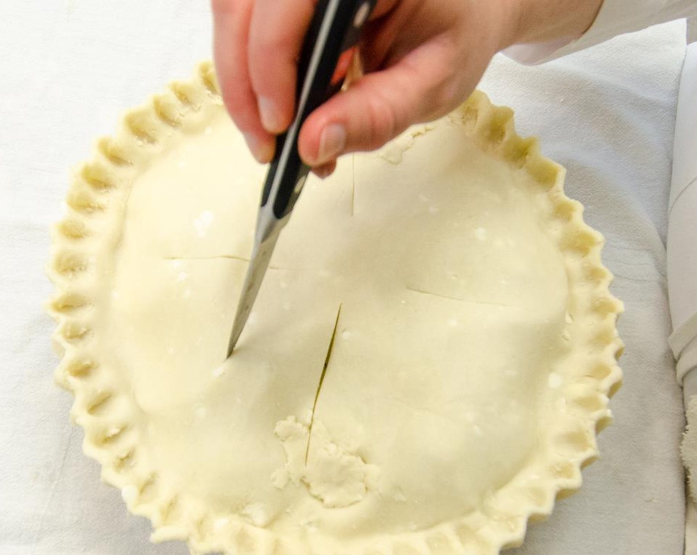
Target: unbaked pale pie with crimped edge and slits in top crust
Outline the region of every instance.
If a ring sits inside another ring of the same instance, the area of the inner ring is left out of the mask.
[[[225,360],[265,168],[210,64],[97,142],[54,232],[60,385],[194,553],[497,554],[581,485],[621,303],[564,170],[475,92],[309,180]]]

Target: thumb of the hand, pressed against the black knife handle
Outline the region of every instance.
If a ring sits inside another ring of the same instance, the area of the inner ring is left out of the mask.
[[[377,149],[408,126],[450,112],[470,92],[458,87],[455,67],[451,52],[431,44],[361,77],[310,114],[300,131],[300,156],[323,165],[346,152]]]

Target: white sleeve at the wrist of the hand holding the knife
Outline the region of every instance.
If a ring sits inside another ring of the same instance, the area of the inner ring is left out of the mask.
[[[595,22],[583,36],[514,45],[504,50],[504,54],[523,64],[541,64],[597,45],[613,36],[694,15],[697,15],[697,0],[604,0]]]

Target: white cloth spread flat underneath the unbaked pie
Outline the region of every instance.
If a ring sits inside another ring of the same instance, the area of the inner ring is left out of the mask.
[[[183,555],[152,546],[118,491],[98,482],[52,382],[41,302],[47,226],[91,140],[210,56],[200,0],[5,3],[0,18],[0,555]],[[625,386],[602,461],[511,554],[682,555],[680,389],[668,350],[665,240],[684,24],[612,40],[546,66],[500,57],[482,87],[567,166],[567,190],[608,239],[625,301]]]

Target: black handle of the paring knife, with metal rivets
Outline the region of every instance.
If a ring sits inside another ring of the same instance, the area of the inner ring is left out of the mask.
[[[298,154],[298,135],[305,119],[344,84],[354,47],[376,0],[319,0],[298,61],[296,117],[276,138],[276,152],[263,187],[261,206],[273,202],[282,219],[300,196],[309,167]],[[270,68],[273,71],[273,68]]]

